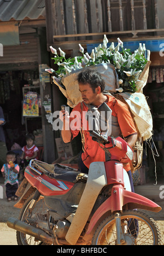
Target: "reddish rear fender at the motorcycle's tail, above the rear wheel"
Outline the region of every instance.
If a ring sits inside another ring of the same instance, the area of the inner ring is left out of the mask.
[[[16,191],[16,195],[20,196],[19,201],[17,201],[14,205],[15,208],[22,208],[24,205],[24,202],[27,200],[27,198],[35,191],[32,187],[32,185],[27,181],[26,178],[23,179],[21,182],[19,188]]]

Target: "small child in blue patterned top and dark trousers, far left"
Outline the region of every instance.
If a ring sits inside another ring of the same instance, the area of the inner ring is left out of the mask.
[[[2,176],[5,178],[6,196],[7,200],[10,202],[11,197],[14,196],[14,201],[17,201],[17,196],[15,195],[18,188],[17,175],[19,173],[19,165],[14,164],[16,160],[16,154],[9,151],[6,154],[7,164],[4,164],[1,172]]]

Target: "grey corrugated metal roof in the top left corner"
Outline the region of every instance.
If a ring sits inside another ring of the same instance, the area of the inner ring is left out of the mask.
[[[45,0],[0,0],[0,21],[45,18]]]

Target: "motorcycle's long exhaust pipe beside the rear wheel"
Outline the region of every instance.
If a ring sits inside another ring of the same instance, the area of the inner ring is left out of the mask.
[[[7,225],[11,229],[15,229],[27,235],[36,237],[38,241],[42,241],[50,245],[52,245],[53,243],[53,238],[46,234],[43,230],[21,222],[21,220],[19,219],[9,218],[7,221]]]

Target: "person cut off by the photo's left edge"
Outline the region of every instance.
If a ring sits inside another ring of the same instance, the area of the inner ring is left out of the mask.
[[[3,110],[0,107],[0,167],[5,163],[5,155],[7,154],[7,147],[5,145],[5,137],[2,125],[5,124]]]

